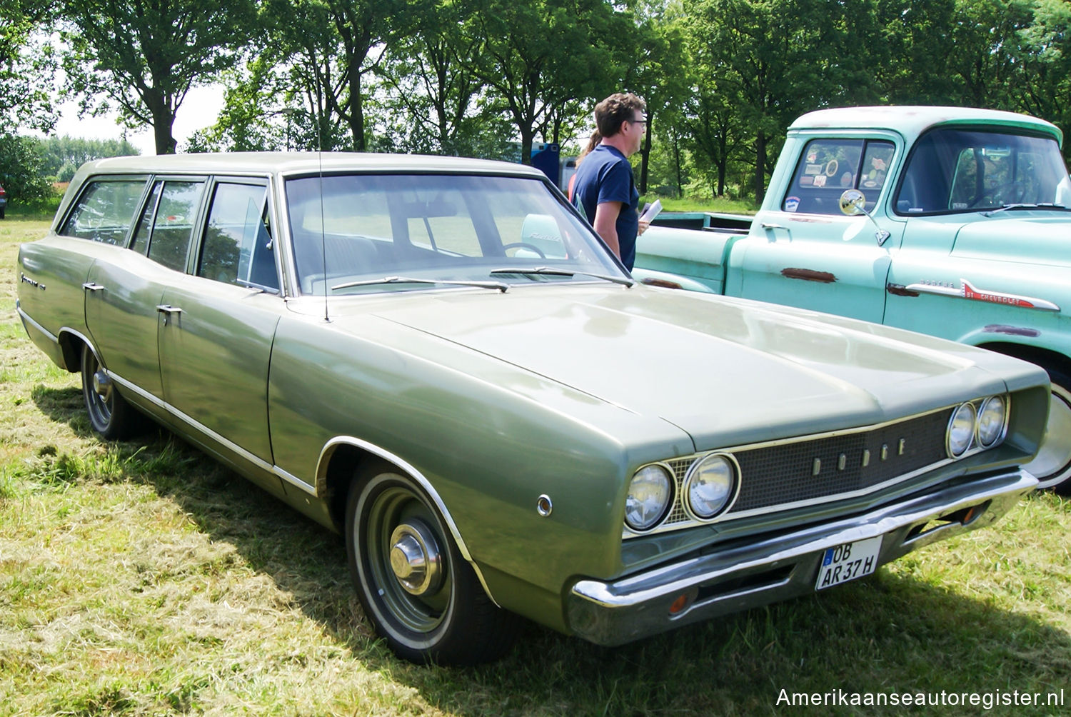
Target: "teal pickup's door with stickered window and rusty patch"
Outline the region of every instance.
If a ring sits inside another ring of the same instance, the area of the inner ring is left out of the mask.
[[[892,252],[903,235],[903,222],[880,209],[896,151],[891,137],[786,144],[779,166],[798,152],[791,174],[774,175],[778,195],[767,197],[746,239],[734,247],[729,275],[739,281],[729,281],[726,293],[881,323]],[[841,194],[853,188],[873,220],[841,211]],[[880,243],[879,229],[889,233]]]

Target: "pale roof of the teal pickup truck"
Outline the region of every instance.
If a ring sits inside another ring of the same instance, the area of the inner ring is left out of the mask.
[[[1064,133],[1052,122],[1029,115],[978,107],[905,105],[838,107],[802,115],[788,129],[892,130],[902,134],[905,139],[914,140],[926,130],[938,124],[995,124],[1030,132],[1042,132],[1052,135],[1059,144],[1064,141]]]

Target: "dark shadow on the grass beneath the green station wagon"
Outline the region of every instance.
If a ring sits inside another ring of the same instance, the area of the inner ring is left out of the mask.
[[[88,430],[72,410],[81,398],[76,389],[37,389],[33,398],[55,420]],[[886,569],[828,593],[613,649],[526,624],[515,649],[495,664],[420,668],[371,638],[337,536],[167,431],[114,448],[126,466],[125,480],[147,482],[175,499],[199,529],[235,546],[365,667],[389,673],[449,714],[778,714],[793,706],[785,702],[793,693],[838,700],[838,690],[849,700],[853,692],[926,692],[931,699],[945,692],[945,704],[908,711],[980,714],[960,696],[1059,692],[1071,673],[1071,638],[1043,619]],[[1066,708],[1045,699],[1015,714]],[[824,714],[904,711],[835,701],[821,707]]]

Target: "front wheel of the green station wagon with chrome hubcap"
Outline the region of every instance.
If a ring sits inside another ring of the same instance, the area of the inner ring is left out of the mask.
[[[496,607],[435,504],[386,466],[358,478],[346,507],[346,552],[376,632],[412,662],[476,664],[501,657],[515,617]]]

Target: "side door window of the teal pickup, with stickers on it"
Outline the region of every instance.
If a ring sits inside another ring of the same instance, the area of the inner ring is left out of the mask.
[[[841,193],[858,189],[873,207],[885,186],[894,146],[879,139],[812,139],[800,155],[784,211],[840,214]]]

